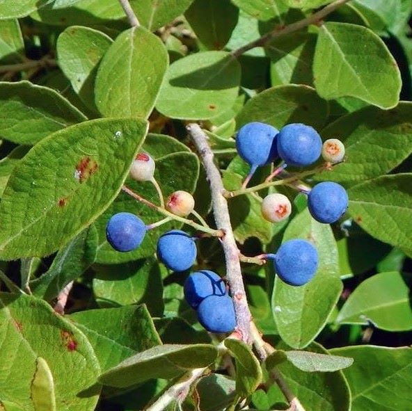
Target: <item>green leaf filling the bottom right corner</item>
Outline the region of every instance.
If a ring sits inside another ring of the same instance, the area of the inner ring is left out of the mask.
[[[409,410],[412,401],[412,349],[354,346],[334,348],[334,355],[354,358],[345,369],[352,411]]]

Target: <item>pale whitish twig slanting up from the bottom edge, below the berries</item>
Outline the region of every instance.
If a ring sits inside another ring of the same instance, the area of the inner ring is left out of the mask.
[[[181,404],[184,398],[187,397],[187,394],[189,394],[190,386],[200,378],[206,370],[207,368],[196,368],[184,374],[176,384],[172,385],[164,394],[157,398],[156,402],[150,405],[149,408],[146,408],[146,411],[163,411],[172,401],[177,401],[177,403]]]

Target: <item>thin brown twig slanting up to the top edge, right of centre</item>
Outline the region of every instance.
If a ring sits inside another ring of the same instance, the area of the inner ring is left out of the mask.
[[[335,11],[337,8],[342,6],[344,3],[347,3],[348,1],[350,0],[335,0],[333,1],[333,3],[330,3],[324,8],[322,8],[322,10],[319,10],[317,13],[313,13],[312,15],[310,15],[309,17],[306,17],[305,19],[299,20],[299,22],[288,24],[287,26],[283,26],[283,28],[281,29],[276,28],[267,34],[262,35],[261,38],[258,38],[257,40],[253,40],[253,42],[250,42],[247,45],[244,45],[237,50],[233,50],[232,56],[239,57],[242,54],[246,53],[246,51],[248,50],[254,49],[255,47],[262,47],[266,45],[267,42],[269,42],[270,40],[274,40],[275,38],[281,37],[282,35],[286,35],[289,33],[293,33],[294,31],[304,29],[310,24],[316,24],[322,19],[324,19],[324,17],[326,17],[328,14],[332,13],[333,11]]]

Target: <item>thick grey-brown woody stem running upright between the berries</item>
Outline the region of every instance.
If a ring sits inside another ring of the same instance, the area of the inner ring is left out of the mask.
[[[225,188],[221,179],[219,169],[214,164],[214,154],[207,143],[207,136],[196,123],[187,125],[193,143],[198,150],[200,159],[206,170],[207,180],[210,184],[212,193],[212,208],[216,227],[223,229],[225,235],[221,239],[223,252],[226,261],[226,278],[232,293],[233,303],[235,304],[237,332],[241,339],[247,344],[251,344],[251,312],[246,300],[246,292],[241,275],[241,266],[239,261],[239,250],[236,245],[235,236],[233,235],[232,225],[230,223],[228,202],[223,196]]]

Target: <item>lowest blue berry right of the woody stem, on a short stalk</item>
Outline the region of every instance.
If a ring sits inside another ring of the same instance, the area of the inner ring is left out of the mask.
[[[275,270],[281,280],[293,286],[306,284],[317,271],[316,248],[306,240],[290,240],[274,255]]]

